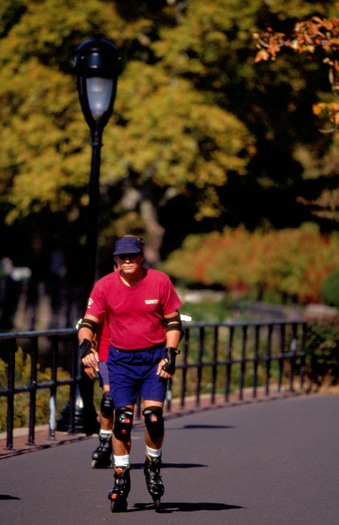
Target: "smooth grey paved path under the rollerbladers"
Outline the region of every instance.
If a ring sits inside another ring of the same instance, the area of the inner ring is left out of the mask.
[[[129,509],[112,514],[112,470],[90,469],[92,437],[0,462],[1,525],[338,525],[339,397],[229,406],[166,422],[162,512],[133,430]]]

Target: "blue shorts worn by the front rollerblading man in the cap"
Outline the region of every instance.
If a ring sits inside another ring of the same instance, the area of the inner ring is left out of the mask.
[[[165,356],[165,345],[131,351],[110,347],[107,368],[116,408],[134,405],[139,395],[146,401],[164,402],[167,379],[157,376],[156,372]]]

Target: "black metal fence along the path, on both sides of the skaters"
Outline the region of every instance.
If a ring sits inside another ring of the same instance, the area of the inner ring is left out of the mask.
[[[258,388],[269,395],[303,389],[305,369],[306,322],[246,321],[184,324],[185,335],[181,354],[177,357],[177,372],[169,382],[166,410],[185,408],[187,399],[200,406],[202,396],[211,405],[217,396],[228,402],[235,394],[239,400],[244,392],[256,398]],[[29,384],[18,384],[20,355],[30,356]],[[57,428],[57,394],[60,387],[69,387],[68,432],[76,431],[77,399],[83,399],[83,411],[93,407],[93,392],[82,385],[77,337],[74,329],[0,334],[0,359],[4,362],[0,375],[0,408],[7,400],[7,448],[13,447],[16,398],[27,393],[28,444],[33,445],[37,412],[37,392],[48,390],[48,423],[50,438]],[[1,363],[0,363],[1,364]],[[39,379],[42,369],[48,370],[48,380]],[[62,371],[62,374],[61,374]],[[66,376],[65,377],[65,372]],[[60,377],[62,375],[62,377]],[[82,385],[82,388],[81,388]],[[90,390],[90,389],[89,389]],[[90,406],[91,405],[91,406]],[[140,410],[137,413],[140,416]],[[47,423],[47,420],[46,420]]]

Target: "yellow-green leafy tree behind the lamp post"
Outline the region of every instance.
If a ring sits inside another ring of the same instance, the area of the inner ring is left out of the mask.
[[[159,27],[175,21],[175,10],[169,17],[166,2],[151,10],[143,2],[131,16],[121,2],[61,4],[20,2],[21,16],[6,25],[0,43],[6,220],[46,209],[83,220],[90,152],[71,60],[76,45],[98,28],[127,52],[115,122],[105,134],[114,147],[104,150],[102,165],[103,193],[110,198],[113,188],[116,203],[122,199],[117,215],[125,213],[132,227],[154,234],[159,202],[178,194],[195,202],[197,218],[220,214],[215,188],[225,184],[228,171],[246,171],[253,137],[234,115],[154,58]],[[8,10],[9,4],[4,18]],[[125,204],[131,188],[133,213]],[[110,207],[106,214],[112,216]]]

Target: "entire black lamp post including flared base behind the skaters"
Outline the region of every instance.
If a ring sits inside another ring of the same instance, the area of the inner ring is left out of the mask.
[[[95,280],[98,244],[99,179],[102,132],[113,113],[121,57],[115,44],[94,38],[76,49],[74,60],[81,109],[91,133],[92,160],[88,186],[88,273],[84,286],[84,308]],[[74,433],[76,427],[86,434],[98,432],[97,413],[93,403],[93,381],[85,374],[79,359],[80,381],[76,398],[70,399],[58,420],[59,429]],[[82,399],[82,402],[81,402]],[[57,427],[58,428],[58,427]]]

